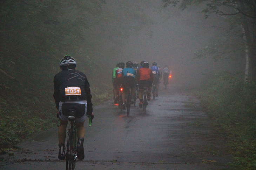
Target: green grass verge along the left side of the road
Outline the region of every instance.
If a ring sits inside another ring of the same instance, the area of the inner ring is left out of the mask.
[[[96,106],[111,97],[110,87],[105,89],[92,87],[92,102]],[[29,137],[45,131],[58,124],[52,93],[47,97],[24,97],[16,102],[0,99],[0,154],[5,154],[9,149]]]

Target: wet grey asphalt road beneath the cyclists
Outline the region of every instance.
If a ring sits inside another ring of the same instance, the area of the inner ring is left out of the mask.
[[[92,127],[86,121],[85,160],[77,161],[78,170],[217,170],[231,162],[227,141],[211,127],[199,101],[180,87],[160,87],[146,114],[136,104],[127,117],[112,100],[96,106],[94,114]],[[57,158],[57,131],[52,128],[20,143],[23,149],[0,155],[0,169],[65,169]]]

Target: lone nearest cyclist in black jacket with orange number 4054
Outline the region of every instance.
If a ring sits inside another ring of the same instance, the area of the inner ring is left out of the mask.
[[[85,138],[85,127],[83,126],[86,115],[92,116],[93,104],[92,95],[90,94],[90,85],[85,76],[80,71],[75,70],[76,61],[74,58],[66,55],[60,61],[61,72],[54,76],[54,99],[56,108],[59,110],[57,116],[60,118],[58,130],[59,137],[59,155],[60,160],[65,159],[65,139],[66,127],[68,124],[68,110],[75,109],[75,124],[78,135],[78,159],[85,157],[83,151],[83,140]]]

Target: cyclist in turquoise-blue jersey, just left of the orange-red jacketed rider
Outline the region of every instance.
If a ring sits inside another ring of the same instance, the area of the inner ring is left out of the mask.
[[[135,76],[136,76],[136,71],[135,69],[132,68],[133,63],[131,61],[126,62],[126,68],[122,70],[122,75],[123,75],[123,87],[124,87],[124,93],[123,93],[123,101],[126,96],[126,87],[129,87],[131,89],[131,94],[132,94],[132,99],[131,103],[134,103],[134,94],[135,94]],[[123,103],[123,107],[125,107]]]

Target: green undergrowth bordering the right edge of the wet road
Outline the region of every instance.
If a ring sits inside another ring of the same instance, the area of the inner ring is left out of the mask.
[[[213,124],[228,137],[234,170],[256,169],[256,84],[235,76],[209,79],[195,94]]]

